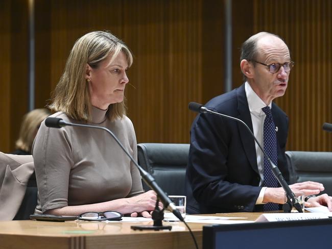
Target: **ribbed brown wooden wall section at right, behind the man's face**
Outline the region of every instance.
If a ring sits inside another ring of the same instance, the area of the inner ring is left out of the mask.
[[[284,38],[295,67],[287,93],[276,103],[289,115],[288,150],[332,151],[332,1],[254,1],[254,33]]]

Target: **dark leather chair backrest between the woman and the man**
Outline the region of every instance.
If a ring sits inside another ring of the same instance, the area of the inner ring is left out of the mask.
[[[148,171],[168,195],[185,195],[185,170],[189,144],[139,143],[138,163]],[[143,182],[143,188],[150,188]]]

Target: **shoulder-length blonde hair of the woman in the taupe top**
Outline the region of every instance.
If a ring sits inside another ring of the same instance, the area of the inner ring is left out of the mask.
[[[111,55],[114,59],[121,52],[126,55],[130,67],[133,62],[132,53],[122,40],[110,32],[94,31],[79,38],[70,51],[49,108],[62,111],[76,120],[91,121],[90,93],[85,78],[86,66],[88,64],[92,68],[97,68],[106,57]],[[114,120],[126,115],[124,102],[110,104],[107,118]]]

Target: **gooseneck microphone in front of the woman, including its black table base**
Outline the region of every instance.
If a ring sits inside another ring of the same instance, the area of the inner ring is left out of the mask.
[[[179,210],[177,210],[175,204],[171,201],[171,199],[165,194],[165,192],[158,186],[155,179],[147,172],[145,171],[141,166],[138,165],[138,163],[132,158],[132,156],[127,152],[125,147],[122,145],[122,143],[118,140],[118,138],[111,132],[109,129],[105,127],[100,126],[90,126],[88,124],[80,124],[80,123],[70,123],[64,121],[62,118],[56,118],[56,117],[48,117],[45,119],[45,125],[47,127],[51,128],[61,128],[64,126],[77,126],[77,127],[85,127],[85,128],[93,128],[93,129],[100,129],[104,130],[107,133],[109,133],[114,140],[117,142],[118,145],[122,148],[122,150],[127,154],[127,156],[130,158],[130,160],[135,164],[135,166],[138,168],[141,177],[145,181],[145,183],[156,192],[157,194],[157,201],[156,201],[156,207],[153,212],[155,214],[152,215],[154,219],[154,226],[136,226],[136,228],[133,229],[148,229],[148,230],[161,230],[161,229],[168,229],[171,230],[172,226],[162,226],[162,219],[163,219],[163,209],[159,209],[159,200],[163,203],[164,207],[168,208],[179,220],[184,221],[181,213]]]

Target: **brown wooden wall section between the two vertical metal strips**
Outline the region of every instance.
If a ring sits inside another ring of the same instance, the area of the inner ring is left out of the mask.
[[[189,142],[196,116],[223,91],[221,1],[37,1],[36,106],[50,98],[76,39],[110,30],[134,53],[128,115],[138,142]],[[46,6],[45,6],[46,5]]]

